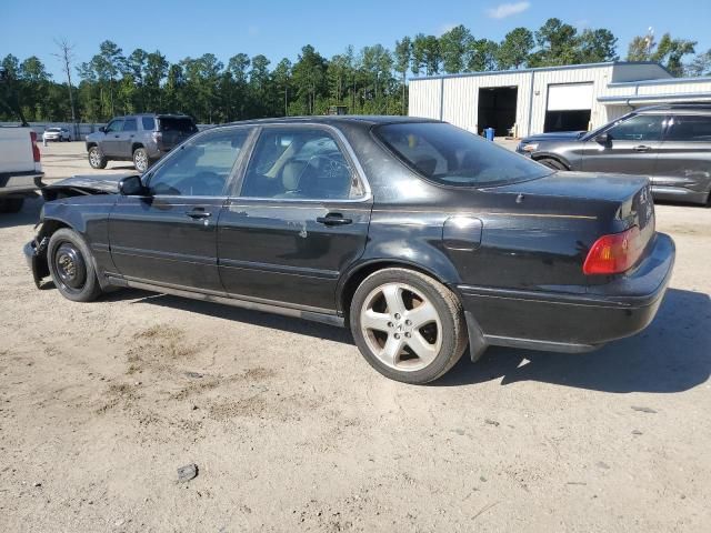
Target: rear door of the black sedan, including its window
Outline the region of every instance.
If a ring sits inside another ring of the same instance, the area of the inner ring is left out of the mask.
[[[340,274],[363,252],[371,197],[344,142],[319,125],[261,130],[239,194],[218,227],[227,292],[336,309]]]

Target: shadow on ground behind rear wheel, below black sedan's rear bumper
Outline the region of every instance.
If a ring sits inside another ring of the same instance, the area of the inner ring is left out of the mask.
[[[637,335],[582,354],[493,346],[475,364],[468,353],[437,386],[501,380],[539,381],[604,392],[672,393],[692,389],[711,373],[711,299],[670,289],[650,326]]]

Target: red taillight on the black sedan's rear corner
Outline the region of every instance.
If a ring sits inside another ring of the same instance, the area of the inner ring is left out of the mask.
[[[634,225],[622,233],[603,235],[595,241],[582,271],[585,274],[619,274],[631,269],[644,247],[640,229]]]

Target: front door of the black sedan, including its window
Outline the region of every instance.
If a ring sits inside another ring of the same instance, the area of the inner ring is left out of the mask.
[[[109,218],[119,273],[132,281],[222,293],[217,223],[248,128],[196,137],[146,174],[148,194],[121,197]]]

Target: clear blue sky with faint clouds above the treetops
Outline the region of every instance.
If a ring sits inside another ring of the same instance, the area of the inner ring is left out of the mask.
[[[698,41],[697,52],[711,48],[711,0],[1,0],[0,58],[38,56],[63,81],[54,39],[74,46],[76,64],[108,39],[127,56],[158,49],[176,62],[211,52],[227,63],[239,52],[263,53],[273,68],[281,58],[296,60],[304,44],[330,58],[349,44],[392,49],[403,36],[439,36],[460,23],[478,39],[499,41],[515,27],[534,30],[551,17],[580,30],[612,30],[622,58],[632,37],[650,27],[658,39],[671,32]]]

